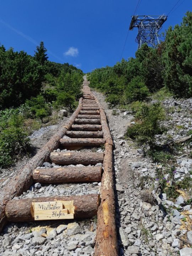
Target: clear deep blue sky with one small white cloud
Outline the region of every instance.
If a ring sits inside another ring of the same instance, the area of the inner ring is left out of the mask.
[[[141,0],[136,14],[168,14],[178,0]],[[49,60],[76,65],[85,73],[119,61],[138,0],[1,0],[0,43],[33,55],[44,41]],[[179,6],[180,5],[180,6]],[[177,8],[178,6],[178,8]],[[164,23],[181,23],[192,0],[180,0]],[[123,57],[134,57],[137,29],[130,31]]]

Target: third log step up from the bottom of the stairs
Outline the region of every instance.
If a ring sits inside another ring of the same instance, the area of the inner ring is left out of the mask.
[[[52,152],[50,160],[59,165],[95,165],[103,162],[103,153],[95,152]]]

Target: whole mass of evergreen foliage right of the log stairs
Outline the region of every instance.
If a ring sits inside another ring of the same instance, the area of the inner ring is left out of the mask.
[[[191,97],[191,63],[192,12],[188,11],[181,26],[167,30],[165,42],[156,48],[143,44],[135,58],[95,69],[89,74],[90,85],[104,92],[112,106],[144,100],[149,93],[163,87],[169,95],[171,92],[175,96]]]

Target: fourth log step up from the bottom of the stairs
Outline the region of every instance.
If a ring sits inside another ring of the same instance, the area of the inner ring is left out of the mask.
[[[71,139],[60,139],[62,146],[100,146],[105,144],[104,139],[98,138],[71,138]]]

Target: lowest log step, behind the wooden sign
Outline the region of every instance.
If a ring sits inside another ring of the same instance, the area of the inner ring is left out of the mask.
[[[53,201],[71,201],[74,204],[75,218],[90,218],[97,214],[98,195],[91,194],[85,196],[54,196],[54,197],[36,197],[20,200],[11,200],[5,208],[6,217],[11,222],[33,221],[31,214],[32,202],[53,202]]]

